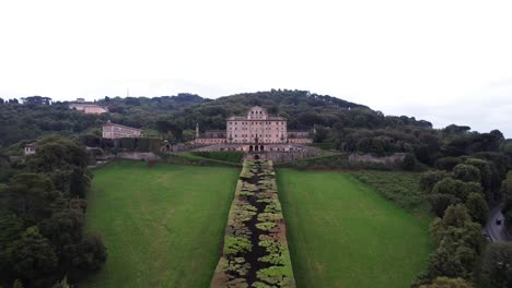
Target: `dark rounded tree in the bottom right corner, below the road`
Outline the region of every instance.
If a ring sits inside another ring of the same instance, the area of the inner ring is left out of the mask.
[[[477,278],[482,288],[512,287],[512,243],[490,243],[482,254]]]

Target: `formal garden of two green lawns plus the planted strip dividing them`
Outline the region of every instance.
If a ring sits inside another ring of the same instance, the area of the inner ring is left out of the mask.
[[[115,161],[88,199],[108,260],[81,286],[409,287],[433,249],[418,190],[399,171]]]

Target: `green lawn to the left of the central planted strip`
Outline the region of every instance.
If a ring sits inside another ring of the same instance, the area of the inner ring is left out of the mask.
[[[208,287],[238,173],[141,161],[94,171],[86,225],[108,260],[81,287]]]

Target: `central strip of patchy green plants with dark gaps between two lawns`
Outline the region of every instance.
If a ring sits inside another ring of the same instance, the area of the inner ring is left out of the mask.
[[[295,287],[271,161],[244,161],[210,286]]]

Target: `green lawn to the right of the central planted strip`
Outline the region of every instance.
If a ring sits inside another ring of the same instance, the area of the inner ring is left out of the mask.
[[[432,249],[416,217],[336,171],[279,169],[298,287],[410,287]]]

